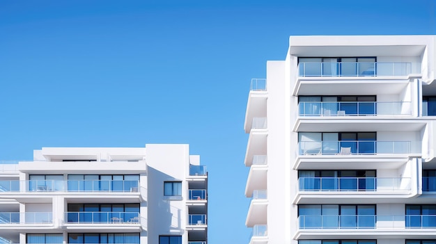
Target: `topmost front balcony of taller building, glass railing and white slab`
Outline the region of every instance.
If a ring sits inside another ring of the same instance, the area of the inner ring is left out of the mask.
[[[354,95],[403,92],[410,79],[421,77],[412,63],[299,63],[293,95]]]

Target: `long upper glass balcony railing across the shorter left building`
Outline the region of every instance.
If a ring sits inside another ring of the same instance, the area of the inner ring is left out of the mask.
[[[139,181],[128,180],[3,180],[0,181],[1,192],[138,192]]]

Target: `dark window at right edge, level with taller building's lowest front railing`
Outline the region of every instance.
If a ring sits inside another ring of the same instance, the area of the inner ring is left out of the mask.
[[[436,205],[406,205],[406,227],[436,227]]]

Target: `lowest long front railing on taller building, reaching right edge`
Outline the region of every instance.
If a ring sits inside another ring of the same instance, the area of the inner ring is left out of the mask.
[[[433,229],[436,215],[300,215],[299,229]]]

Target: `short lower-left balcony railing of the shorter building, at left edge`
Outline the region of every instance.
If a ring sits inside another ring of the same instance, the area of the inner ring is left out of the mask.
[[[0,224],[51,224],[52,212],[0,212]]]

